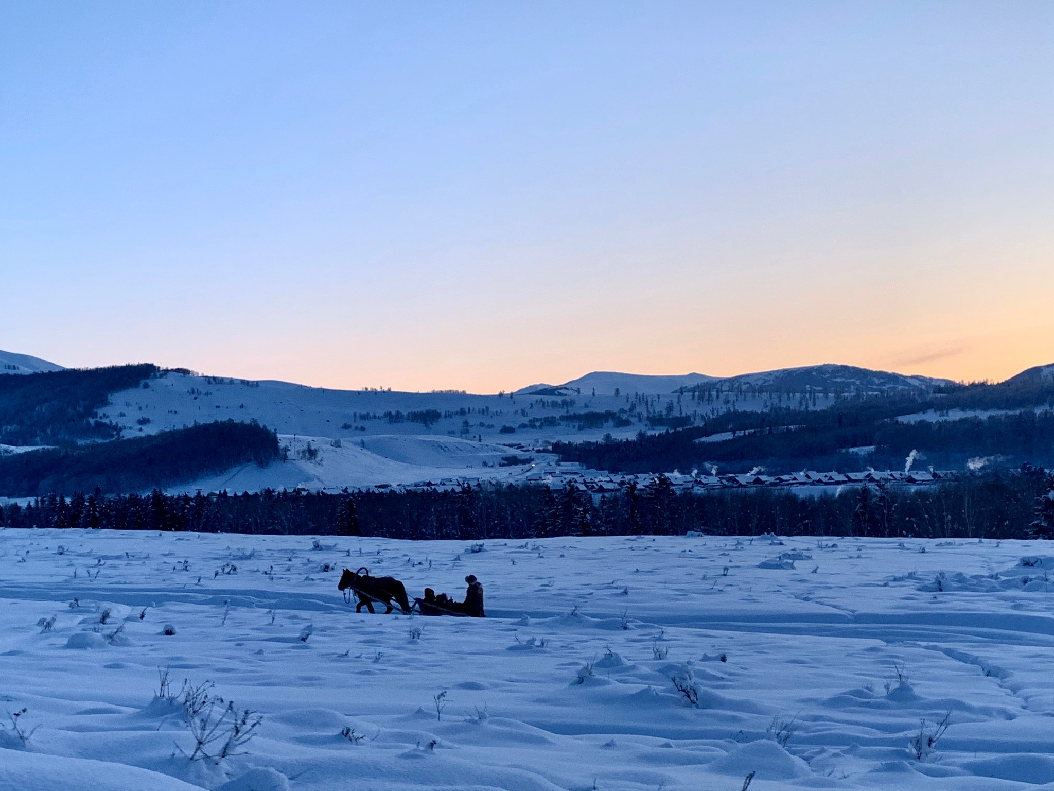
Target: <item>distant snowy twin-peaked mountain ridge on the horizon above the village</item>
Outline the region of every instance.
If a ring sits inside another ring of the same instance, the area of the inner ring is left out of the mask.
[[[1023,374],[1019,374],[1023,375]],[[699,384],[722,385],[724,387],[779,388],[793,392],[807,389],[829,392],[892,392],[897,390],[929,390],[939,385],[953,384],[946,379],[911,377],[890,371],[875,371],[853,365],[809,365],[800,368],[778,368],[757,373],[741,373],[735,377],[708,377],[705,373],[683,375],[646,375],[641,373],[620,373],[618,371],[593,371],[562,385],[530,385],[516,390],[523,396],[613,396],[620,393],[644,393],[664,396],[681,387],[690,388]]]

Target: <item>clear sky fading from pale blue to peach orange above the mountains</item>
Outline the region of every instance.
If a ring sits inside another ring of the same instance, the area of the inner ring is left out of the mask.
[[[1054,3],[0,0],[0,348],[332,387],[1054,362]]]

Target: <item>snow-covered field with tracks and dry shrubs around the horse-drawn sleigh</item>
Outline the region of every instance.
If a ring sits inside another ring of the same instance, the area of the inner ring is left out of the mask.
[[[1038,542],[470,544],[0,532],[0,788],[1054,788]],[[489,617],[355,615],[360,565]],[[243,754],[182,754],[164,668],[262,716]]]

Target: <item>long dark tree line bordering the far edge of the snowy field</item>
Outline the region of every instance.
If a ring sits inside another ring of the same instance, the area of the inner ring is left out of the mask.
[[[0,505],[0,526],[195,530],[397,539],[530,539],[684,535],[1027,538],[1054,536],[1054,476],[1026,467],[925,488],[846,487],[802,497],[786,489],[690,495],[658,476],[596,496],[577,487],[480,485],[455,490],[265,490],[234,495],[72,497]],[[1045,516],[1046,514],[1046,516]],[[1046,521],[1045,521],[1046,520]],[[1046,525],[1046,528],[1043,527]],[[1047,534],[1043,534],[1047,529]]]

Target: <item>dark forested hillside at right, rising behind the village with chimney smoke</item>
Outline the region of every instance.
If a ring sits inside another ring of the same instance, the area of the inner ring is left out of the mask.
[[[945,389],[844,399],[825,409],[730,411],[701,426],[622,441],[554,442],[552,449],[564,461],[621,472],[713,464],[724,471],[887,469],[902,466],[912,450],[941,468],[962,468],[975,458],[1004,466],[1054,462],[1054,382],[1024,378]],[[954,410],[967,417],[955,419]],[[933,420],[897,420],[929,411]]]

